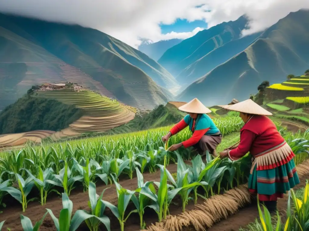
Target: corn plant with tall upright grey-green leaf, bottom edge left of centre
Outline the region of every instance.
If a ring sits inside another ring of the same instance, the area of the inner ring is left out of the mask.
[[[103,215],[105,210],[105,205],[102,202],[103,193],[107,188],[103,190],[99,198],[97,198],[95,183],[90,182],[88,193],[89,201],[88,206],[91,209],[92,217],[85,220],[86,225],[90,231],[98,231],[99,225],[103,223],[106,229],[110,230],[110,220],[107,216]]]

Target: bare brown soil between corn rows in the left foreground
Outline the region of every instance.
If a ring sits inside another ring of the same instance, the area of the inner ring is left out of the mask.
[[[177,165],[176,164],[170,164],[167,169],[174,173],[177,171]],[[144,181],[160,181],[160,170],[157,170],[155,173],[143,173]],[[137,178],[133,178],[132,180],[122,180],[119,182],[123,188],[135,190],[137,188]],[[108,188],[110,187],[110,188]],[[116,187],[115,184],[112,185],[103,185],[103,186],[97,186],[97,194],[101,194],[102,190],[104,188],[106,191],[104,192],[103,200],[109,201],[112,204],[117,204],[117,194],[116,194]],[[78,192],[79,191],[79,192]],[[10,197],[8,197],[10,198]],[[30,199],[29,197],[28,199]],[[11,198],[10,198],[11,199]],[[73,202],[73,211],[76,211],[78,209],[85,209],[88,210],[88,201],[89,196],[88,192],[83,193],[83,188],[76,188],[72,190],[72,193],[70,194],[70,200]],[[3,213],[0,215],[0,222],[5,221],[3,229],[6,230],[6,228],[10,228],[14,231],[22,231],[22,226],[20,223],[20,217],[19,214],[22,213],[22,207],[21,204],[16,204],[16,200],[12,199],[12,201],[3,201],[6,203],[7,208],[2,209]],[[11,204],[10,204],[11,203]],[[38,200],[34,202],[30,202],[28,204],[28,208],[23,213],[24,216],[27,216],[30,218],[32,223],[34,224],[36,221],[40,220],[41,217],[43,217],[44,213],[46,212],[46,208],[51,209],[56,217],[59,217],[60,211],[62,209],[62,201],[61,197],[51,197],[47,198],[46,205],[41,206],[40,202]],[[125,230],[139,230],[139,218],[135,219],[135,214],[132,216],[132,219],[128,219],[127,225],[131,226],[132,223],[134,224],[132,229],[128,227],[128,229],[125,228]],[[109,216],[109,217],[112,217]],[[131,218],[131,216],[130,216]],[[151,214],[149,218],[145,217],[147,221],[155,222],[157,221],[157,215]],[[152,218],[152,219],[151,219]],[[131,222],[131,221],[134,222]],[[136,222],[135,222],[136,221]],[[147,222],[148,223],[148,222]],[[149,223],[149,224],[150,224]],[[118,228],[118,220],[113,220],[113,217],[111,219],[111,228],[115,230],[119,230]],[[136,229],[137,228],[137,229]],[[47,215],[45,217],[44,223],[41,226],[40,230],[55,230],[53,221],[51,220],[51,217]],[[78,230],[88,230],[86,229],[78,229]]]

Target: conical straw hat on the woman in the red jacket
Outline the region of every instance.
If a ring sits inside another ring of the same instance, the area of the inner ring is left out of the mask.
[[[263,107],[261,107],[257,103],[254,103],[252,99],[247,99],[245,101],[235,103],[232,105],[223,105],[221,107],[223,107],[224,109],[230,110],[230,111],[239,111],[239,112],[254,114],[254,115],[273,115],[272,113],[265,110]]]

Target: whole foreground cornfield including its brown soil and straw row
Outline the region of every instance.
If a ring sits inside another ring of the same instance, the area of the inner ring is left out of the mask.
[[[238,116],[214,122],[224,136],[218,152],[239,140],[243,122]],[[3,227],[23,230],[25,222],[42,218],[44,230],[54,230],[54,224],[64,220],[68,227],[61,230],[201,230],[252,202],[243,185],[250,156],[232,162],[206,153],[204,164],[192,148],[166,151],[161,137],[169,129],[2,152],[0,205],[7,205],[2,206]],[[296,164],[307,158],[308,133],[285,135]],[[172,136],[168,146],[190,136],[185,129]]]

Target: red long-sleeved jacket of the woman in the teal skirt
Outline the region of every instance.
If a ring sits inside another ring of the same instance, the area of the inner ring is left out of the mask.
[[[229,152],[229,156],[238,159],[248,152],[255,156],[284,141],[271,119],[265,115],[253,115],[240,130],[240,144]]]

